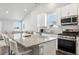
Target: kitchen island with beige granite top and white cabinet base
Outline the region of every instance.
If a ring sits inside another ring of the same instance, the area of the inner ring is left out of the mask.
[[[32,48],[32,55],[55,55],[56,37],[31,35],[25,39],[14,39],[17,43]]]

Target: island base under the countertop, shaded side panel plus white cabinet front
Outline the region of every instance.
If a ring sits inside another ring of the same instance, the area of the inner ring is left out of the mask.
[[[56,55],[56,39],[32,47],[32,55]]]

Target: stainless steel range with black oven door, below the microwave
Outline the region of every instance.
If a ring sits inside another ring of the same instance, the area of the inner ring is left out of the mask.
[[[77,29],[66,29],[58,35],[58,50],[64,53],[76,54],[76,38],[79,35]]]

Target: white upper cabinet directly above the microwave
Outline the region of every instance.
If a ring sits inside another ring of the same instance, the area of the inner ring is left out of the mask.
[[[77,15],[78,14],[77,9],[78,9],[77,4],[75,4],[75,3],[63,6],[61,8],[61,17]]]

